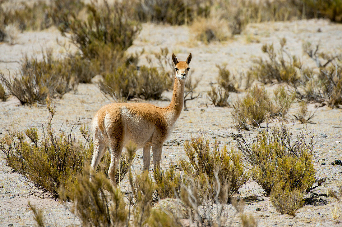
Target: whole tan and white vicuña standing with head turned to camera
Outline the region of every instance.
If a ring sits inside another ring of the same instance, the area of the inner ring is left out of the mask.
[[[160,108],[148,103],[111,103],[98,110],[92,120],[94,153],[91,170],[96,170],[108,146],[111,155],[108,175],[113,185],[116,185],[115,170],[122,148],[130,140],[136,143],[137,148],[143,148],[144,170],[149,170],[151,146],[154,168],[160,167],[163,143],[183,108],[191,53],[185,61],[178,61],[172,53],[172,61],[176,76],[172,100],[168,107]]]

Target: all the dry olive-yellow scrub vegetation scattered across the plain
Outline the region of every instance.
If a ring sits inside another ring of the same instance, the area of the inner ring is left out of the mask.
[[[264,44],[264,57],[252,59],[252,67],[244,73],[217,65],[218,75],[210,83],[207,97],[215,107],[231,108],[238,130],[238,134],[233,133],[235,145],[222,145],[218,139],[210,143],[206,134],[199,132],[181,145],[186,158],[151,174],[137,174],[131,169],[136,155],[134,144],[130,144],[116,173],[117,183],[128,174],[128,195],[107,179],[109,152],[97,173],[90,174],[93,143],[86,126],[75,122],[66,132],[52,127],[52,100],[75,92],[79,83],[92,83],[96,75],[100,75],[96,83],[101,92],[116,101],[160,99],[172,88],[173,65],[167,48],[147,57],[146,65],[139,63],[143,52],[127,52],[141,23],[190,26],[194,37],[208,44],[230,39],[253,22],[320,17],[341,22],[341,1],[131,0],[86,4],[52,0],[19,3],[16,8],[8,3],[0,0],[1,42],[14,44],[15,30],[55,26],[77,50],[56,58],[52,49],[42,49],[42,58],[24,56],[15,75],[7,77],[0,72],[2,101],[12,95],[21,104],[46,104],[50,114],[41,129],[27,127],[2,136],[0,150],[8,166],[37,189],[60,199],[83,226],[228,226],[235,215],[239,215],[241,225],[257,226],[253,215],[244,214],[244,201],[238,194],[250,181],[264,190],[281,214],[295,216],[304,205],[304,195],[317,180],[314,137],[302,130],[293,138],[284,122],[290,118],[310,122],[313,113],[308,113],[309,102],[331,108],[342,105],[340,53],[320,52],[319,45],[305,43],[305,55],[316,64],[309,67],[301,56],[287,50],[286,39],[280,39],[279,47]],[[195,95],[199,83],[201,80],[188,79],[185,109],[186,101],[202,96]],[[273,92],[265,88],[269,84],[276,85]],[[236,100],[229,99],[232,93],[239,94]],[[296,104],[297,113],[289,114]],[[277,124],[270,126],[275,118]],[[255,128],[260,131],[251,139],[244,130]],[[82,141],[75,139],[77,133]],[[341,202],[341,187],[339,192],[329,190],[328,194]],[[30,207],[39,226],[49,224],[42,211]],[[233,216],[229,213],[232,208]],[[339,217],[337,213],[332,211],[334,219]]]

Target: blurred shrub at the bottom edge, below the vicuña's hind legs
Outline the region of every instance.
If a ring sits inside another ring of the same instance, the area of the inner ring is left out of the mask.
[[[129,211],[120,189],[113,187],[102,172],[92,174],[91,181],[89,176],[89,168],[85,168],[71,189],[59,190],[62,201],[72,201],[70,207],[64,205],[80,219],[82,226],[126,226]]]

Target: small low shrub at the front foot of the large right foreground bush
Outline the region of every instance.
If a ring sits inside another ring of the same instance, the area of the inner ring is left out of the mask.
[[[294,188],[292,190],[283,190],[280,187],[272,189],[269,197],[273,207],[281,214],[296,216],[296,212],[304,204],[302,190]]]

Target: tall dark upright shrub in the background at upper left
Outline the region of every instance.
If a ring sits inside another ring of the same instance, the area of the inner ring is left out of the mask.
[[[72,15],[70,19],[71,39],[84,57],[93,59],[103,48],[124,51],[130,47],[140,31],[140,25],[130,19],[127,2],[116,1],[114,5],[104,0],[103,5],[88,4],[86,21]],[[60,28],[64,33],[63,28]]]

